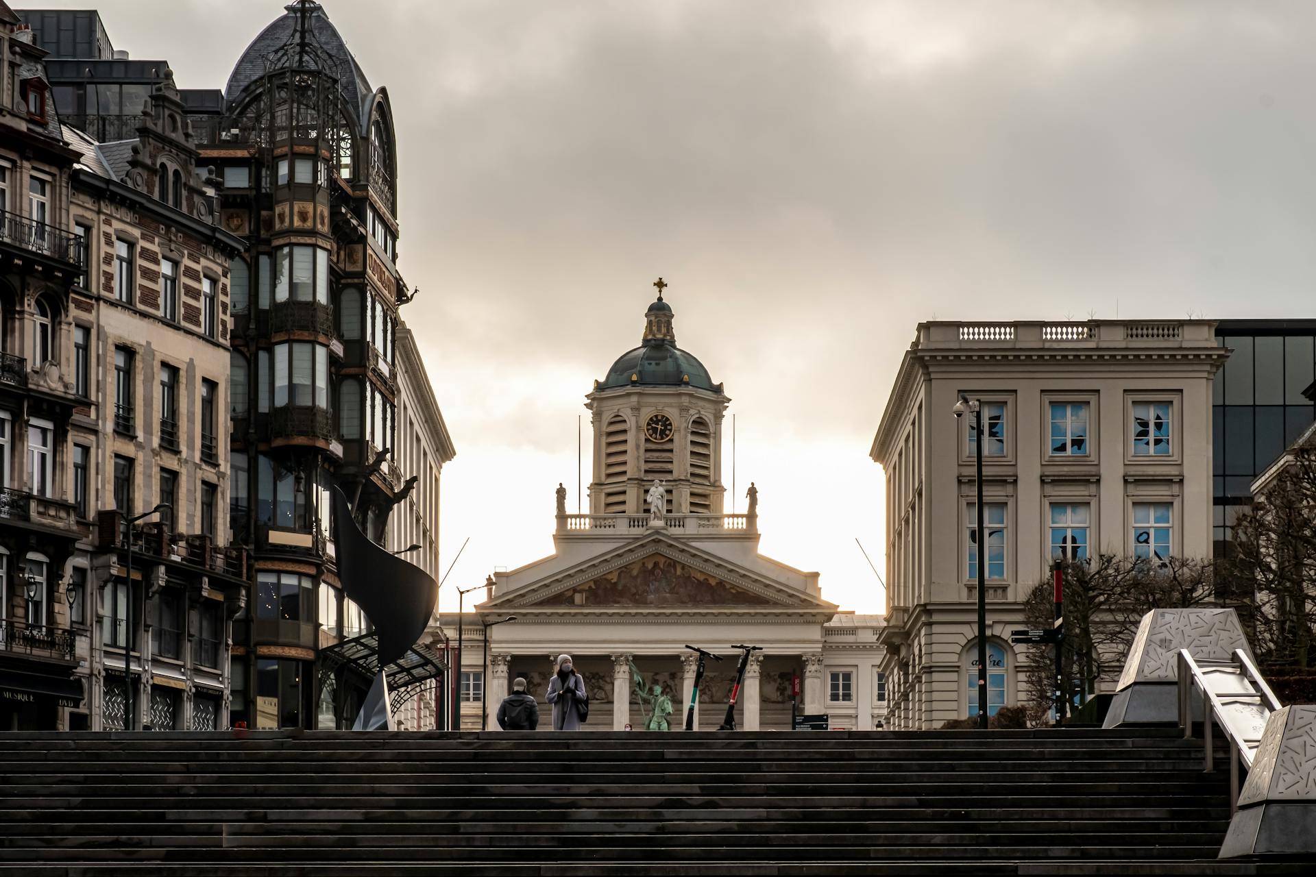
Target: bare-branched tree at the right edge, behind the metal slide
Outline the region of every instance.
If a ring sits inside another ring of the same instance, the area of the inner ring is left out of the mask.
[[[1316,434],[1277,465],[1234,521],[1220,577],[1228,602],[1245,615],[1257,657],[1309,668],[1316,665]]]

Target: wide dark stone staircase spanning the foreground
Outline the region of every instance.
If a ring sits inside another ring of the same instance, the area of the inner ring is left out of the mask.
[[[1177,730],[0,734],[0,876],[1312,873],[1228,822]]]

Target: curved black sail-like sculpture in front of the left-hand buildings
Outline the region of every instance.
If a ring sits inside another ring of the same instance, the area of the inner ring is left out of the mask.
[[[337,486],[333,508],[338,580],[342,592],[374,625],[379,638],[379,669],[383,669],[405,655],[425,632],[438,585],[420,567],[367,539],[351,517],[347,497]]]

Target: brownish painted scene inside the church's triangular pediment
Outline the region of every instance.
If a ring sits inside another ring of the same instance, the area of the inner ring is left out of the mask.
[[[663,555],[613,569],[566,590],[536,601],[536,606],[672,607],[780,606]]]

